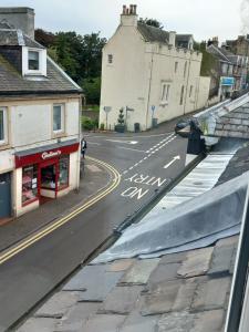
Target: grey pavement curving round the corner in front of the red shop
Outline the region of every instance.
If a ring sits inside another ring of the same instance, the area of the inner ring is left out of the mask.
[[[85,159],[84,174],[81,178],[79,190],[73,190],[66,196],[50,200],[38,209],[0,226],[0,251],[41,231],[45,226],[55,222],[85,204],[110,183],[110,174],[103,166]]]

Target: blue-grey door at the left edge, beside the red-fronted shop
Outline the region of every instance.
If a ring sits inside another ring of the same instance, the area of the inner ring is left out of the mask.
[[[11,217],[10,173],[0,174],[0,221]]]

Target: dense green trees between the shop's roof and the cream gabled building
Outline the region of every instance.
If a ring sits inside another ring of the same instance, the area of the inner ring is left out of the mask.
[[[102,49],[106,39],[100,32],[85,35],[74,31],[51,33],[35,30],[35,40],[48,48],[49,55],[83,87],[87,103],[98,104]]]

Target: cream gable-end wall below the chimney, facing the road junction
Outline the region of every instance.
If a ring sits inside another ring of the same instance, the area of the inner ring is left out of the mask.
[[[107,63],[107,54],[113,54],[113,64]],[[133,113],[128,113],[128,128],[134,129],[133,123],[139,122],[145,129],[143,114],[147,106],[148,65],[145,44],[136,28],[118,28],[103,50],[100,124],[106,125],[104,106],[112,106],[107,124],[112,129],[117,124],[120,108],[128,106],[134,108]]]

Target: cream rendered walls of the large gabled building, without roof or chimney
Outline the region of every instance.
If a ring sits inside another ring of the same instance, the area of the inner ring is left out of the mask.
[[[107,63],[108,54],[113,55],[113,64]],[[175,72],[176,62],[178,68]],[[136,122],[142,131],[152,126],[153,105],[158,123],[197,110],[197,104],[207,102],[209,92],[207,80],[204,80],[204,91],[199,94],[200,63],[201,53],[145,42],[135,25],[120,25],[103,50],[100,125],[104,123],[106,127],[104,106],[112,107],[108,129],[114,129],[117,124],[121,107],[134,108],[134,112],[127,113],[128,131],[134,131]],[[167,103],[162,102],[163,83],[170,85]],[[180,105],[183,85],[185,91]],[[193,92],[189,96],[190,86]]]

